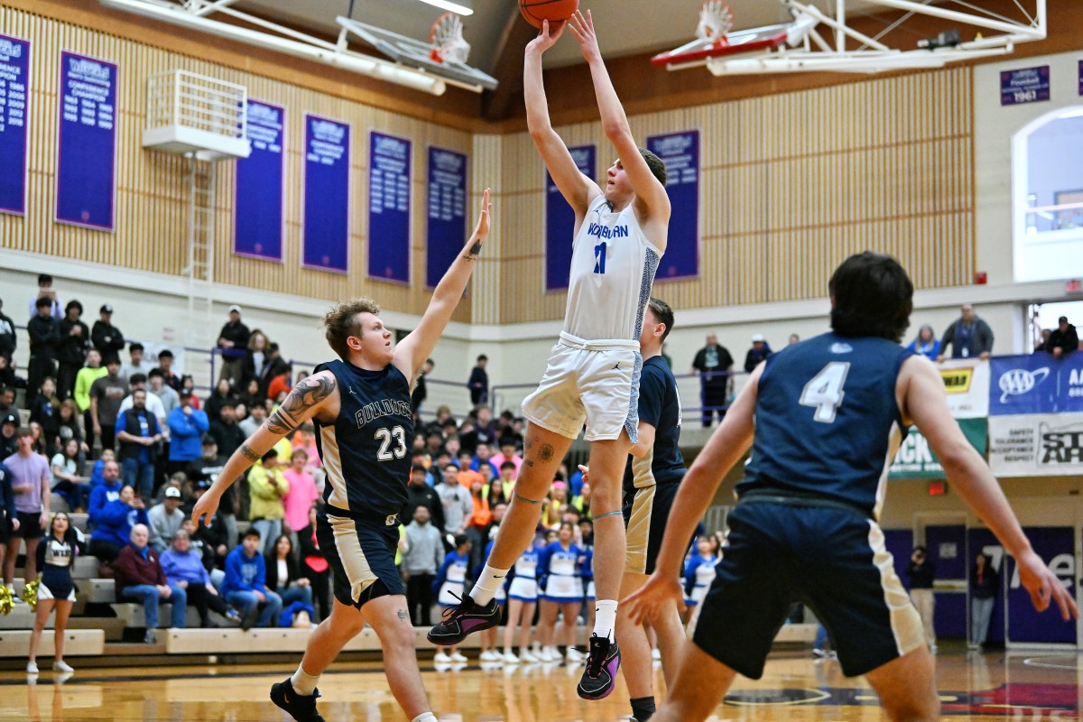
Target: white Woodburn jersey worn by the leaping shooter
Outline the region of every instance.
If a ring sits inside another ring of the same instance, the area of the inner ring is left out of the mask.
[[[596,198],[572,241],[564,331],[585,341],[639,341],[661,258],[631,204],[615,213],[604,196]]]

